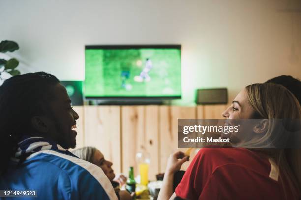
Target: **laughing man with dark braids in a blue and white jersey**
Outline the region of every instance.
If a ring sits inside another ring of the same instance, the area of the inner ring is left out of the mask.
[[[117,200],[103,171],[67,150],[76,146],[78,118],[54,75],[36,72],[5,80],[0,86],[0,189],[31,191],[41,200]]]

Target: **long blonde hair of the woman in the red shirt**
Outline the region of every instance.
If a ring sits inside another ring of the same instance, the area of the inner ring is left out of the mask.
[[[270,123],[270,120],[285,119],[283,126],[289,127],[290,119],[301,119],[299,101],[285,87],[272,83],[252,84],[246,87],[246,91],[249,104],[255,111],[254,118],[268,119],[269,121],[265,136],[253,142],[260,144],[270,142],[268,140],[277,128],[274,126],[275,123]],[[298,122],[300,121],[298,120]],[[280,180],[284,183],[283,180],[285,179],[289,183],[289,188],[296,188],[300,198],[301,149],[261,149],[260,151],[275,159],[281,172]],[[290,192],[284,191],[286,194]]]

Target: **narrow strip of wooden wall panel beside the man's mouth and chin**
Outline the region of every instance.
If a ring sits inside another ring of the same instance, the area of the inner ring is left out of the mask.
[[[79,118],[76,120],[76,147],[81,148],[84,147],[84,125],[85,125],[85,115],[84,115],[84,107],[83,106],[73,106],[73,110],[77,112]]]

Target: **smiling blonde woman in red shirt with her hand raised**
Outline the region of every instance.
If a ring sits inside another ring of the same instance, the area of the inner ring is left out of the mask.
[[[172,154],[158,199],[301,199],[301,149],[290,148],[291,136],[284,141],[278,135],[280,125],[273,123],[281,119],[281,126],[293,128],[300,139],[301,108],[294,95],[281,85],[252,84],[222,115],[227,120],[258,119],[252,128],[254,137],[237,141],[240,148],[199,150],[174,194],[173,174],[188,157],[182,152]]]

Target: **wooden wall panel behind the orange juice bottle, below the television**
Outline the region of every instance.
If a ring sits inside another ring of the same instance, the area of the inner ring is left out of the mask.
[[[122,106],[122,170],[134,166],[139,174],[136,153],[146,151],[151,156],[149,179],[159,171],[158,106]]]

